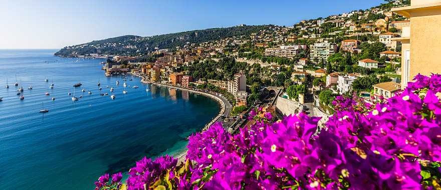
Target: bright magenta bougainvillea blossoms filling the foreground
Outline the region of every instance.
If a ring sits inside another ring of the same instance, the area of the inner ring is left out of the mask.
[[[337,97],[324,126],[304,113],[273,122],[252,110],[237,134],[215,123],[189,137],[186,161],[143,158],[128,172],[99,177],[96,189],[441,188],[441,75],[375,104]]]

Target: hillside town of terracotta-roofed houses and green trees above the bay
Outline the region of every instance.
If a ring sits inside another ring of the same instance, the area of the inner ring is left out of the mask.
[[[152,83],[222,95],[234,107],[226,120],[262,106],[275,115],[306,112],[325,122],[337,95],[378,101],[416,75],[409,67],[409,39],[425,36],[410,36],[411,19],[401,8],[408,4],[387,0],[369,9],[147,54],[78,56],[106,57],[107,76],[133,73]]]

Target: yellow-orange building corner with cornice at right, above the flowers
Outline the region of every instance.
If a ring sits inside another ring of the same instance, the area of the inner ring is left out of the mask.
[[[441,73],[441,0],[411,0],[410,6],[392,8],[392,11],[410,18],[410,26],[402,29],[401,86],[418,74]]]

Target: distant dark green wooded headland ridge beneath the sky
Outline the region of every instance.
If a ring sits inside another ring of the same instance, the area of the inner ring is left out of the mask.
[[[258,32],[259,30],[268,27],[269,25],[246,25],[226,28],[209,28],[149,37],[123,35],[108,39],[94,40],[79,45],[67,46],[60,49],[55,55],[77,56],[89,53],[135,55],[147,51],[153,51],[155,47],[160,49],[175,48],[176,46],[182,47],[187,43],[197,44],[225,37],[250,35],[253,32]]]

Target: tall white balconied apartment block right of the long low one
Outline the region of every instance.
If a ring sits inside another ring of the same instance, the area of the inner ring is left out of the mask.
[[[315,63],[319,63],[321,60],[327,62],[328,57],[336,53],[337,50],[338,45],[328,41],[314,43],[314,45],[311,45],[310,60]]]

